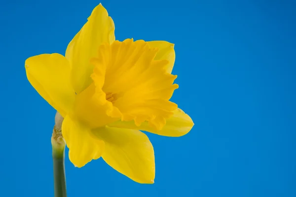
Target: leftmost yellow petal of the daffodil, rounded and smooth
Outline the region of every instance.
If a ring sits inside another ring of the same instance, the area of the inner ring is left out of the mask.
[[[65,117],[74,103],[69,61],[62,55],[42,54],[25,62],[27,78],[37,92]]]

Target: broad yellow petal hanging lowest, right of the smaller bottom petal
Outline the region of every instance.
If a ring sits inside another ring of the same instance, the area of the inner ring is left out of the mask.
[[[154,183],[154,151],[145,133],[109,127],[93,133],[105,141],[102,158],[107,164],[138,183]]]

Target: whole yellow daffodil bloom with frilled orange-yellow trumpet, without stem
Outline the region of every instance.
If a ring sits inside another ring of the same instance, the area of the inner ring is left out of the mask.
[[[70,161],[82,167],[100,157],[139,183],[153,183],[154,151],[147,135],[182,136],[191,118],[169,101],[174,45],[115,40],[114,24],[100,4],[69,43],[66,55],[26,60],[27,77],[63,117]]]

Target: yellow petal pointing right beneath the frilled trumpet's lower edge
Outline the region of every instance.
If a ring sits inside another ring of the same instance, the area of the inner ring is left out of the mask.
[[[160,131],[151,127],[148,122],[142,123],[140,127],[137,127],[134,121],[117,121],[109,124],[110,127],[136,129],[170,137],[180,137],[185,135],[192,129],[193,125],[192,119],[179,108],[174,111],[174,115],[172,117],[166,120],[165,126]]]

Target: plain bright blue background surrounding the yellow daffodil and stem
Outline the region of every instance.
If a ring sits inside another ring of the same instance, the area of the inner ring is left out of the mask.
[[[69,197],[295,197],[296,2],[102,0],[115,35],[175,43],[173,101],[195,126],[148,133],[153,185],[102,159],[75,168]],[[98,0],[0,1],[0,196],[52,197],[55,110],[29,84],[25,60],[65,53]],[[66,154],[68,154],[68,149]]]

